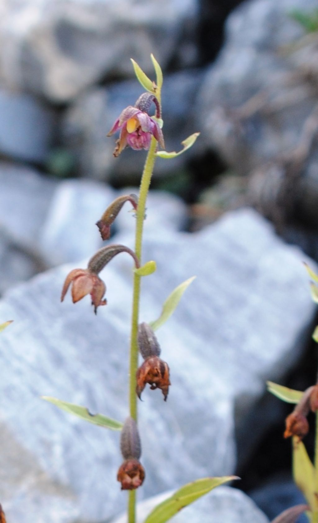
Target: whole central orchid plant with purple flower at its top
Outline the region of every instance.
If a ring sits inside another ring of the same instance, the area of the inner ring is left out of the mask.
[[[161,315],[157,320],[150,324],[139,321],[140,280],[143,277],[153,274],[156,270],[154,260],[142,263],[146,200],[155,161],[158,157],[169,159],[182,154],[194,144],[199,135],[199,133],[194,133],[184,140],[182,142],[183,149],[180,152],[164,151],[163,120],[161,114],[161,87],[163,77],[160,65],[153,55],[151,55],[151,60],[156,73],[156,82],[151,81],[139,65],[132,60],[136,77],[145,89],[145,92],[139,96],[134,105],[123,109],[108,133],[108,136],[112,136],[116,132],[120,132],[113,153],[115,157],[123,153],[126,147],[131,147],[135,151],[148,151],[140,181],[139,196],[129,194],[116,198],[105,210],[100,220],[97,221],[101,237],[104,241],[107,241],[110,237],[112,223],[121,211],[123,205],[129,202],[136,216],[134,251],[124,245],[106,245],[102,247],[89,260],[86,269],[74,269],[68,274],[61,296],[61,300],[63,301],[69,287],[71,288],[74,303],[84,298],[85,295],[90,294],[94,311],[97,313],[100,306],[107,304],[107,300],[104,298],[106,287],[99,277],[100,271],[117,254],[125,252],[132,257],[134,269],[131,345],[129,350],[129,415],[122,423],[101,414],[91,415],[86,407],[57,400],[53,397],[43,396],[45,400],[90,423],[111,430],[121,431],[120,448],[123,463],[119,467],[117,481],[120,482],[122,490],[128,491],[128,523],[135,523],[136,490],[143,484],[146,477],[145,469],[142,463],[140,463],[141,444],[137,425],[137,401],[144,391],[146,384],[150,385],[151,390],[160,389],[163,394],[163,399],[166,401],[171,384],[170,369],[168,363],[160,358],[161,348],[155,331],[168,320],[178,305],[182,294],[194,279],[193,277],[189,278],[172,291],[166,302],[164,302]],[[155,114],[150,116],[149,113],[152,107],[155,109]],[[139,353],[144,361],[142,365],[138,367]],[[181,508],[189,505],[216,486],[233,479],[235,479],[235,476],[206,477],[187,484],[152,510],[146,518],[145,523],[164,523],[164,521],[170,519]]]

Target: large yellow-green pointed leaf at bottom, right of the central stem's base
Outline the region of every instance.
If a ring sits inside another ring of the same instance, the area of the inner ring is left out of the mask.
[[[179,510],[190,505],[204,494],[207,494],[213,488],[222,485],[228,481],[238,480],[237,476],[225,477],[204,477],[193,483],[188,483],[172,494],[171,497],[157,505],[150,512],[144,523],[164,523],[172,518]]]

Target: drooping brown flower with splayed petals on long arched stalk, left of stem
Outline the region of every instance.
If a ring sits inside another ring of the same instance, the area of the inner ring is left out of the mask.
[[[73,303],[84,298],[86,294],[90,294],[96,314],[97,308],[107,303],[107,301],[103,299],[106,286],[98,274],[114,256],[123,252],[133,257],[136,268],[140,267],[139,260],[135,253],[128,247],[125,247],[125,245],[108,245],[107,247],[102,247],[91,257],[87,269],[73,269],[69,272],[63,285],[61,301],[64,300],[65,294],[72,283]]]

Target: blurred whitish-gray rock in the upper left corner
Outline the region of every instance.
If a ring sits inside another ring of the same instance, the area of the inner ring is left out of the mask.
[[[194,0],[39,0],[1,7],[0,77],[6,85],[65,102],[105,75],[131,75],[133,58],[152,71],[182,53]],[[189,44],[186,48],[193,48]],[[191,53],[190,53],[191,54]]]

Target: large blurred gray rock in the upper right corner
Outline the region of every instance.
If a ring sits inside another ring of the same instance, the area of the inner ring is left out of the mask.
[[[305,36],[291,13],[315,8],[315,0],[252,0],[228,18],[226,43],[197,98],[197,126],[202,147],[239,173],[290,155],[308,135],[305,122],[318,103],[311,81],[317,38]],[[318,177],[316,145],[310,170]]]

